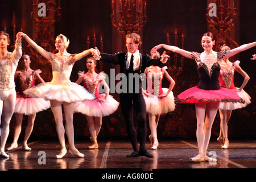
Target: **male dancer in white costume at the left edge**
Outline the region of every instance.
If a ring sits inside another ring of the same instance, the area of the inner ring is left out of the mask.
[[[15,49],[9,52],[7,47],[11,40],[9,34],[0,31],[0,156],[9,158],[5,152],[5,144],[10,132],[10,121],[13,116],[16,102],[14,75],[18,61],[22,56],[22,36],[16,35]]]

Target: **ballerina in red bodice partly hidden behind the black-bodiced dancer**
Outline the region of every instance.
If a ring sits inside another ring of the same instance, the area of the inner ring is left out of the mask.
[[[230,51],[230,48],[224,44],[221,47],[221,51]],[[233,92],[236,92],[239,97],[241,97],[245,103],[233,103],[233,102],[220,102],[218,106],[218,111],[220,112],[220,136],[218,137],[218,142],[221,143],[221,148],[228,148],[229,147],[229,140],[228,140],[228,121],[231,117],[232,110],[240,109],[242,107],[246,107],[251,103],[251,97],[249,94],[243,90],[247,82],[249,81],[250,77],[247,75],[245,71],[242,70],[240,67],[240,61],[235,61],[234,63],[230,62],[228,58],[225,58],[224,61],[221,63],[221,71],[218,80],[220,81],[220,86],[224,88],[228,88]],[[243,83],[240,88],[234,86],[234,72],[237,71],[243,77]]]

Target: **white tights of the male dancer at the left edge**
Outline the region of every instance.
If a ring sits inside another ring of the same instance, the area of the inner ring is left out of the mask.
[[[15,88],[11,90],[0,90],[0,135],[1,146],[0,152],[5,151],[6,140],[10,131],[10,121],[13,116],[16,103]]]

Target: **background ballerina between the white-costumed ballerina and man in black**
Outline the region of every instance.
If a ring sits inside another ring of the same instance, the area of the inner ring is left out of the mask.
[[[102,125],[102,117],[110,115],[117,110],[119,102],[114,100],[112,96],[109,96],[109,86],[105,81],[105,73],[96,73],[95,68],[97,61],[93,57],[89,57],[86,60],[86,67],[88,72],[79,73],[80,77],[76,81],[77,84],[83,82],[84,88],[90,93],[94,94],[95,99],[92,101],[79,101],[76,102],[75,111],[86,115],[86,120],[89,126],[90,140],[92,146],[89,149],[98,148],[97,136],[100,133]],[[100,86],[103,85],[105,93],[100,94]]]

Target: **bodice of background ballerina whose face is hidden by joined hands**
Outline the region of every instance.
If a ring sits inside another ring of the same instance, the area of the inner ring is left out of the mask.
[[[159,73],[152,73],[149,71],[147,73],[147,82],[148,82],[147,93],[151,93],[156,96],[159,94],[163,94],[162,80],[163,80],[162,71]]]

